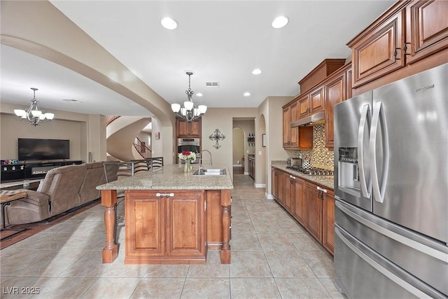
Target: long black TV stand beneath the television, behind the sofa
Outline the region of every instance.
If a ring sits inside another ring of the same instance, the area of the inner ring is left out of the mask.
[[[43,179],[50,169],[82,162],[81,160],[58,160],[1,165],[1,183],[24,179]]]

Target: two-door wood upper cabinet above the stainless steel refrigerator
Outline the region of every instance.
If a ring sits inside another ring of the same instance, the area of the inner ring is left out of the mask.
[[[347,44],[352,52],[353,88],[448,48],[447,15],[448,1],[398,1]],[[402,71],[381,85],[419,70]]]

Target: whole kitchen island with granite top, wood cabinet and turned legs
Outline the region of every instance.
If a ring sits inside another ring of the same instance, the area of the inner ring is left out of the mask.
[[[205,263],[208,249],[221,249],[221,263],[230,263],[230,191],[232,177],[193,175],[184,165],[165,165],[144,174],[97,186],[105,207],[106,246],[103,263],[118,256],[117,190],[125,192],[125,263]]]

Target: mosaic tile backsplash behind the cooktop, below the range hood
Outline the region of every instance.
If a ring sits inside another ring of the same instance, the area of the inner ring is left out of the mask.
[[[311,154],[311,165],[325,169],[333,169],[333,159],[335,157],[332,151],[325,148],[325,125],[316,125],[313,127],[313,149],[311,151],[294,151],[294,157],[302,159],[307,154]]]

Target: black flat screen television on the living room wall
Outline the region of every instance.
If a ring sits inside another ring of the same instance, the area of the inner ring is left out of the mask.
[[[63,139],[18,139],[19,160],[70,159],[70,140]]]

